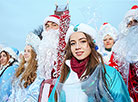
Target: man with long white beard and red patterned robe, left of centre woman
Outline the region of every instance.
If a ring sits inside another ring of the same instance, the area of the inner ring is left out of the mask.
[[[63,51],[61,50],[65,47],[64,37],[69,27],[69,21],[69,12],[65,12],[60,17],[50,15],[44,20],[38,55],[38,76],[44,79],[41,83],[39,102],[48,101],[48,96],[54,87],[54,79],[59,76],[60,70],[57,68],[63,61]]]

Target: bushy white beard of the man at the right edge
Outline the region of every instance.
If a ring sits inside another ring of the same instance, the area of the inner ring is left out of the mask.
[[[113,46],[113,51],[123,56],[129,63],[135,63],[138,61],[138,26],[133,26],[124,33]]]

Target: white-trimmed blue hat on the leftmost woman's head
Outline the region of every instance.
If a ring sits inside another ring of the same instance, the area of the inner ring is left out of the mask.
[[[18,59],[19,51],[18,51],[16,48],[4,47],[4,48],[2,48],[1,52],[2,52],[2,51],[6,51],[6,52],[8,52],[9,55],[11,55],[13,58]]]

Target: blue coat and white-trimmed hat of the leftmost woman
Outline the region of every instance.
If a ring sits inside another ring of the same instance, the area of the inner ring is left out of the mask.
[[[7,52],[11,58],[8,61],[8,64],[0,67],[0,101],[7,102],[11,94],[11,83],[14,77],[16,68],[18,67],[18,53],[19,51],[15,48],[3,47],[1,53]]]

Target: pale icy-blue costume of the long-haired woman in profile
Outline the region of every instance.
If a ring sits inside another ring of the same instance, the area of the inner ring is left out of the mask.
[[[8,102],[38,102],[40,84],[43,81],[43,78],[37,77],[31,85],[24,88],[24,81],[20,83],[21,76],[22,75],[14,79],[14,83],[12,84],[12,94],[9,97]]]

